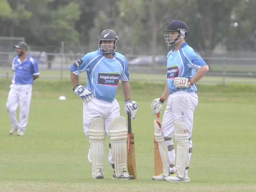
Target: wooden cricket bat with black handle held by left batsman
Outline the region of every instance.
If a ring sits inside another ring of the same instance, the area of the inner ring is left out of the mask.
[[[128,114],[127,167],[128,167],[129,175],[133,175],[134,179],[137,179],[135,148],[134,148],[134,133],[132,133],[130,114]]]

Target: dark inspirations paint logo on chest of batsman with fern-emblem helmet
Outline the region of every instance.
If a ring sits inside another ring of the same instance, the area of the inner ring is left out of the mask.
[[[98,73],[98,84],[117,87],[119,78],[119,73]]]

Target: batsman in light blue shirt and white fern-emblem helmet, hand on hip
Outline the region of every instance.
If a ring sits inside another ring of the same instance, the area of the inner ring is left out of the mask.
[[[126,114],[134,119],[137,103],[131,101],[127,61],[117,53],[119,39],[113,30],[102,31],[95,52],[90,52],[69,67],[73,90],[83,100],[83,131],[89,138],[88,160],[93,179],[104,178],[104,139],[110,138],[108,160],[114,169],[112,179],[134,179],[126,166],[126,119],[120,116],[115,95],[122,81]],[[79,84],[80,73],[87,72],[86,87]]]

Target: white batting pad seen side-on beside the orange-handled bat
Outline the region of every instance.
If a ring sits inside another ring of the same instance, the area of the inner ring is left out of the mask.
[[[168,177],[169,172],[169,159],[168,159],[168,148],[165,144],[165,139],[163,138],[163,134],[161,132],[161,127],[158,124],[158,120],[154,120],[154,127],[155,127],[155,140],[158,142],[158,148],[163,164],[163,174],[165,177]]]

